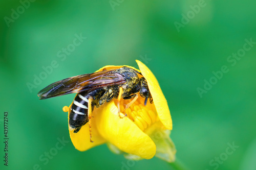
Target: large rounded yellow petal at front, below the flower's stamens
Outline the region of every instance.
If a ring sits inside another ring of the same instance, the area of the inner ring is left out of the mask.
[[[127,117],[120,118],[114,103],[94,110],[98,132],[123,152],[151,159],[156,153],[153,140]],[[121,113],[121,116],[124,116]]]

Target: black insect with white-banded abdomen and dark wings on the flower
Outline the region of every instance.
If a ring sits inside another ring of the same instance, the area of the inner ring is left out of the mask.
[[[141,72],[126,66],[63,79],[40,90],[37,95],[42,100],[70,93],[77,93],[69,115],[69,127],[74,129],[74,133],[79,132],[81,127],[90,121],[89,107],[93,111],[94,106],[98,108],[114,98],[119,102],[121,98],[133,99],[126,105],[125,109],[127,109],[136,101],[138,93],[145,98],[144,105],[148,99],[153,103],[146,79]],[[89,106],[89,100],[91,100],[91,106]]]

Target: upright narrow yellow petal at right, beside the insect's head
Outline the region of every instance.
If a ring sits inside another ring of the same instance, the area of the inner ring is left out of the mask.
[[[145,66],[145,64],[143,64],[141,61],[136,60],[136,62],[142,75],[147,81],[148,88],[150,89],[159,119],[166,129],[172,130],[173,122],[172,118],[170,117],[169,107],[156,77],[153,75],[151,70],[148,69],[147,66]]]

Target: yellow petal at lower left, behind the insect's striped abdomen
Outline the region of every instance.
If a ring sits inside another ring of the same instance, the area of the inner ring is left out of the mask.
[[[71,105],[70,105],[71,106]],[[69,111],[70,114],[70,111]],[[94,142],[90,142],[90,132],[88,123],[80,129],[78,133],[73,133],[74,130],[69,130],[70,138],[74,147],[78,151],[86,151],[90,148],[96,147],[97,145],[103,144],[106,142],[104,138],[102,138],[95,125],[94,117],[92,117],[92,140]]]

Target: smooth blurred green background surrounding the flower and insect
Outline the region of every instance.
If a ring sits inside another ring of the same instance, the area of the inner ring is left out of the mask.
[[[135,59],[154,72],[166,96],[180,162],[188,169],[256,169],[255,43],[243,50],[246,39],[256,41],[255,5],[231,0],[2,0],[0,136],[3,141],[8,111],[10,139],[8,167],[0,144],[1,169],[172,169],[158,158],[127,162],[105,144],[75,150],[62,112],[75,94],[38,99],[37,92],[55,81],[104,65],[136,66]],[[74,46],[76,35],[86,38]],[[242,56],[236,64],[229,58],[232,53]],[[42,73],[51,64],[55,68]],[[228,72],[214,78],[212,71],[225,65]],[[44,80],[34,84],[39,76]],[[200,96],[198,88],[210,80],[214,85]],[[29,89],[29,83],[35,86]],[[49,161],[41,161],[59,139],[68,142]],[[229,144],[239,148],[230,154]]]

